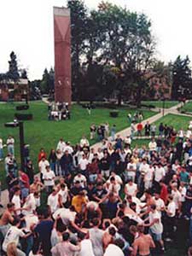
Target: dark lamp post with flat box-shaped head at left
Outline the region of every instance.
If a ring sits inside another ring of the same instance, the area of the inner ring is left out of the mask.
[[[19,127],[20,129],[20,167],[23,171],[25,168],[25,161],[24,161],[24,129],[23,129],[23,122],[22,121],[14,121],[4,124],[5,127],[9,128],[16,128]]]

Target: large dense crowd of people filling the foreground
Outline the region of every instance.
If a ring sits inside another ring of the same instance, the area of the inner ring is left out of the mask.
[[[96,135],[93,126],[90,139]],[[108,123],[103,126],[100,148],[90,147],[85,136],[75,146],[61,138],[49,154],[40,149],[38,175],[30,159],[25,170],[7,169],[9,203],[0,218],[2,253],[162,255],[165,242],[169,246],[176,241],[184,220],[191,255],[190,129],[175,131],[164,124],[152,129],[146,123],[149,143],[139,148],[131,146],[131,135],[115,136],[114,131],[109,140]],[[13,141],[10,148],[14,158]]]

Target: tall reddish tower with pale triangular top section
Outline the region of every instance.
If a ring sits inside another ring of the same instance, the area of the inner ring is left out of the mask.
[[[54,7],[55,102],[72,101],[70,10]]]

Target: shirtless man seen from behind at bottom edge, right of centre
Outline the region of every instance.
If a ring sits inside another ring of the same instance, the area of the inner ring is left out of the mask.
[[[133,242],[132,256],[150,256],[150,248],[154,248],[154,241],[150,235],[144,235],[143,224],[137,224],[138,237]],[[138,254],[137,254],[138,253]]]

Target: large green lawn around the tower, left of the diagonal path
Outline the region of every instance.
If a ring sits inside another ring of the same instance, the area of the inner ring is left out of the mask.
[[[18,162],[20,161],[20,147],[19,147],[19,129],[18,128],[5,128],[4,123],[13,121],[14,114],[16,113],[16,103],[1,103],[0,104],[0,137],[3,137],[3,143],[6,143],[7,137],[13,135],[15,137],[15,155]],[[37,170],[37,160],[39,148],[45,148],[47,154],[49,154],[50,148],[55,148],[60,137],[63,137],[65,141],[71,143],[79,143],[80,138],[85,134],[89,138],[90,125],[95,123],[99,125],[104,122],[108,122],[109,125],[115,124],[117,131],[121,131],[130,126],[126,116],[127,113],[135,113],[136,110],[128,108],[119,109],[119,117],[109,117],[111,109],[108,108],[96,108],[88,115],[87,110],[73,105],[72,118],[66,121],[49,121],[47,119],[48,111],[47,105],[44,102],[30,102],[30,109],[24,113],[32,113],[33,120],[25,121],[25,143],[30,144],[30,156],[33,164]],[[20,112],[23,113],[23,112]],[[144,119],[154,115],[154,112],[143,111]],[[92,141],[91,143],[96,143]],[[7,148],[4,148],[4,154],[7,154]],[[0,180],[4,183],[4,166],[3,162],[0,164]]]

